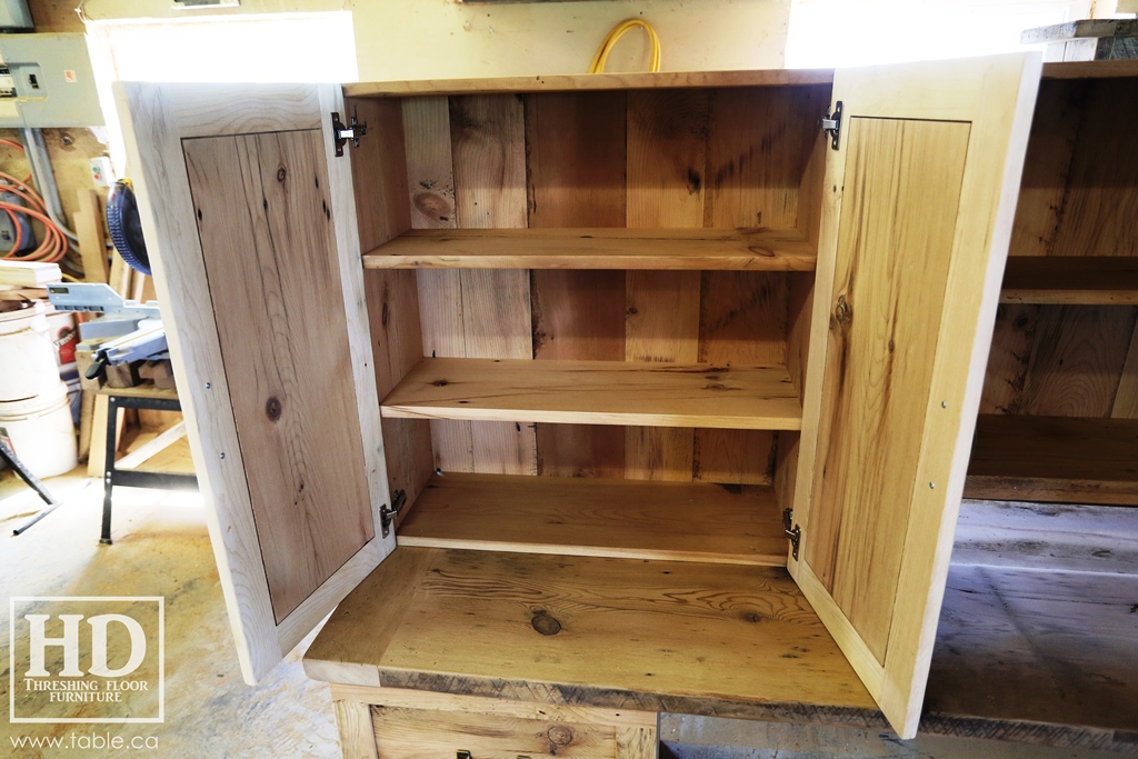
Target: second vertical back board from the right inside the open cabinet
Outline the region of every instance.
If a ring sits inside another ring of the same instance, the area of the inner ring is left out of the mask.
[[[628,93],[629,229],[703,224],[708,98],[701,90]],[[625,358],[699,360],[700,273],[629,271],[625,277]],[[629,479],[690,481],[695,431],[638,427],[625,431]]]

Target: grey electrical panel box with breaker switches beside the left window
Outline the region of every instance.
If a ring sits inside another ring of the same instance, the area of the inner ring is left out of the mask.
[[[0,127],[104,123],[83,34],[0,34]]]

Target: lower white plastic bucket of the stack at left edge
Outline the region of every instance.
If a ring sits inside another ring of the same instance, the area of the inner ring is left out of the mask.
[[[0,437],[36,477],[55,477],[75,469],[79,451],[67,386],[56,379],[48,393],[0,403]]]

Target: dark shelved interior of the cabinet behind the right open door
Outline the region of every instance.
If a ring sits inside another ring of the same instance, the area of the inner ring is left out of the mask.
[[[965,495],[1138,505],[1138,79],[1045,79]]]

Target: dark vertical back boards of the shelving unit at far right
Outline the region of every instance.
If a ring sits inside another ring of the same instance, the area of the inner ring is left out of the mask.
[[[1013,256],[1138,256],[1133,80],[1045,80]],[[1000,306],[981,413],[1138,419],[1138,306]]]

